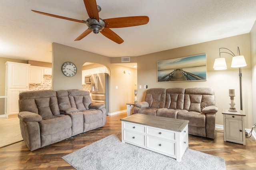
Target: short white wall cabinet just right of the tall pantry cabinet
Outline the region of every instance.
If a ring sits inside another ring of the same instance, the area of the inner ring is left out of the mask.
[[[44,82],[44,68],[29,66],[29,83],[41,84]]]

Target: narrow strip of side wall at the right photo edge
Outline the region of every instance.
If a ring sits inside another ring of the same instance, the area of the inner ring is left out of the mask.
[[[256,123],[256,21],[250,31],[251,68],[252,68],[252,113]],[[255,128],[254,128],[255,129]]]

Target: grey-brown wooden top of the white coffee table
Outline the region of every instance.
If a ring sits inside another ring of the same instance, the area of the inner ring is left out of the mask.
[[[120,119],[121,121],[127,121],[131,123],[137,123],[146,126],[157,127],[161,129],[167,129],[170,131],[181,132],[186,125],[188,120],[182,119],[172,119],[168,117],[144,115],[144,114],[134,114],[128,117]]]

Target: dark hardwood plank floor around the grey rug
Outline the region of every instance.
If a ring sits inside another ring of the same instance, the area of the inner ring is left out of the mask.
[[[123,117],[126,117],[126,112],[107,116],[104,127],[32,152],[28,150],[24,141],[0,148],[0,170],[74,169],[61,157],[113,133],[120,134],[120,118]],[[216,131],[216,138],[214,140],[193,135],[189,135],[188,138],[189,149],[224,158],[226,160],[226,169],[256,169],[256,141],[253,137],[246,139],[246,146],[224,142],[221,129]]]

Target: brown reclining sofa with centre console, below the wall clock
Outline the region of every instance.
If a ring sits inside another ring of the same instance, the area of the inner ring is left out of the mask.
[[[105,105],[92,103],[86,90],[22,92],[19,109],[22,138],[31,151],[106,123]]]

